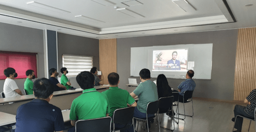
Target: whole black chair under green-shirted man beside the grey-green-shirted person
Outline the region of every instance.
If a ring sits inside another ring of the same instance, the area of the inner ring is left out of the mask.
[[[135,107],[117,109],[113,113],[113,128],[111,131],[127,129],[133,125],[133,114]],[[132,124],[130,124],[132,122]],[[115,128],[115,123],[125,124],[122,128]]]

